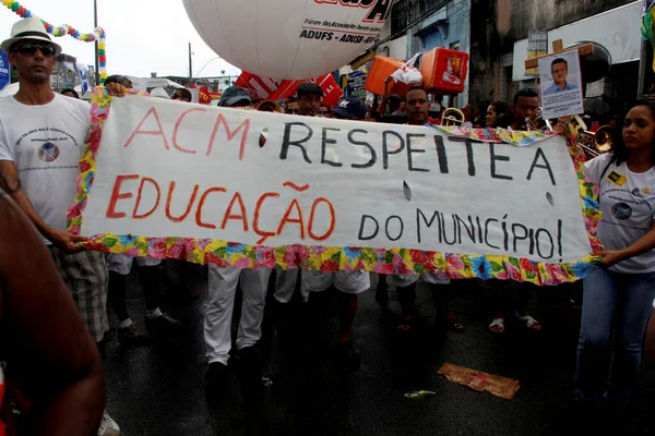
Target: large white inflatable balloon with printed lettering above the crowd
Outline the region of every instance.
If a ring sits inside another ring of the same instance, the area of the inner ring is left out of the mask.
[[[182,0],[203,40],[241,70],[309,78],[374,43],[392,0]]]

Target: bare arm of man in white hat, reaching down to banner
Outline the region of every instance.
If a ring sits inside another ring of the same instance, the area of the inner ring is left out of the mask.
[[[64,231],[55,230],[44,222],[38,216],[32,201],[21,189],[19,171],[16,165],[12,160],[0,160],[0,174],[7,183],[9,195],[19,205],[19,207],[27,215],[27,218],[34,223],[36,229],[57,247],[66,253],[78,253],[84,250],[78,242],[83,242],[86,238],[71,234]]]

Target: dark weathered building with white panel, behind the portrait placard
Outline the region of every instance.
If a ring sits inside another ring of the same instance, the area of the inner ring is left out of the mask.
[[[611,70],[604,80],[586,85],[586,98],[603,96],[619,101],[636,96],[643,1],[493,0],[478,3],[489,8],[489,19],[485,25],[472,24],[472,28],[484,28],[473,35],[473,100],[479,104],[495,99],[511,101],[519,88],[537,84],[535,77],[525,72],[527,38],[533,29],[547,34],[549,51],[557,39],[562,39],[564,47],[591,41],[607,48]],[[472,21],[479,21],[475,7],[474,10]]]

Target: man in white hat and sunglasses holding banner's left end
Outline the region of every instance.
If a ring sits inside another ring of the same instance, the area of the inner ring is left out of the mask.
[[[80,245],[84,238],[69,233],[66,222],[90,133],[90,106],[52,92],[50,73],[61,47],[39,19],[15,23],[11,35],[0,47],[16,68],[21,87],[15,96],[0,98],[0,174],[44,237],[91,336],[102,346],[108,329],[107,264],[103,254],[85,251]],[[108,89],[124,94],[116,84]],[[98,434],[119,434],[107,413]]]

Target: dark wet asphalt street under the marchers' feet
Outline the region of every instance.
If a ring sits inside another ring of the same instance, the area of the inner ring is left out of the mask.
[[[571,289],[536,293],[532,304],[544,330],[531,334],[508,323],[504,337],[487,330],[489,301],[475,282],[454,284],[451,302],[465,323],[464,334],[444,332],[434,324],[432,299],[418,288],[418,323],[412,332],[396,328],[400,305],[393,289],[380,305],[374,291],[359,298],[355,340],[361,370],[343,371],[334,356],[338,328],[336,299],[323,302],[330,320],[308,349],[302,341],[273,342],[274,384],[250,389],[231,371],[231,386],[205,396],[206,370],[202,314],[206,275],[198,277],[202,298],[187,300],[175,265],[162,269],[163,308],[180,317],[178,337],[157,337],[150,347],[121,348],[115,331],[107,338],[107,408],[123,435],[550,435],[571,434],[570,408],[580,313],[553,308],[568,301]],[[377,282],[372,278],[371,282]],[[129,280],[128,307],[143,322],[144,300],[134,274]],[[558,299],[558,294],[567,298]],[[296,332],[305,331],[300,302],[295,302]],[[110,316],[112,316],[109,306]],[[116,318],[112,316],[112,326]],[[448,382],[437,374],[444,362],[516,378],[521,388],[504,400]],[[655,432],[655,368],[645,367],[620,434]],[[258,385],[259,387],[259,385]],[[404,393],[426,389],[437,395],[408,400]],[[585,434],[585,433],[579,433]]]

